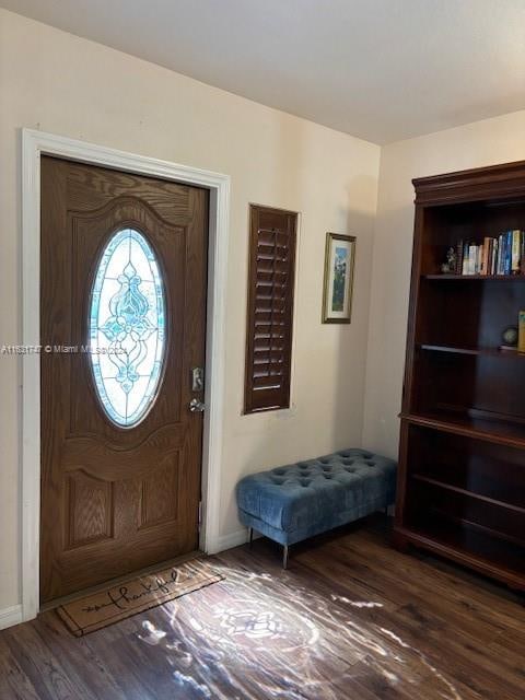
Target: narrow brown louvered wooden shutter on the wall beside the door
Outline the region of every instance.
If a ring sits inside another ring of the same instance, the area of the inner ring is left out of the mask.
[[[290,406],[296,219],[250,207],[246,413]]]

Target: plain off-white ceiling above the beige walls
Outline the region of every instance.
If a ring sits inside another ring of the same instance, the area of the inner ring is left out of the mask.
[[[0,0],[387,143],[525,108],[525,0]]]

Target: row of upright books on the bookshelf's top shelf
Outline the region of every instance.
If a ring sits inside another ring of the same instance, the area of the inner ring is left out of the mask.
[[[482,243],[458,241],[455,267],[448,272],[492,277],[525,275],[525,231],[516,229],[498,237],[485,236]]]

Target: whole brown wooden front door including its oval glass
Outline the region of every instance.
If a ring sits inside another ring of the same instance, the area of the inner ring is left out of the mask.
[[[208,191],[42,159],[42,602],[198,547]]]

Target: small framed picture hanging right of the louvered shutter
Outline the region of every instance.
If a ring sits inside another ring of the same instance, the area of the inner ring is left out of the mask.
[[[349,324],[352,310],[355,236],[326,234],[323,323]]]

